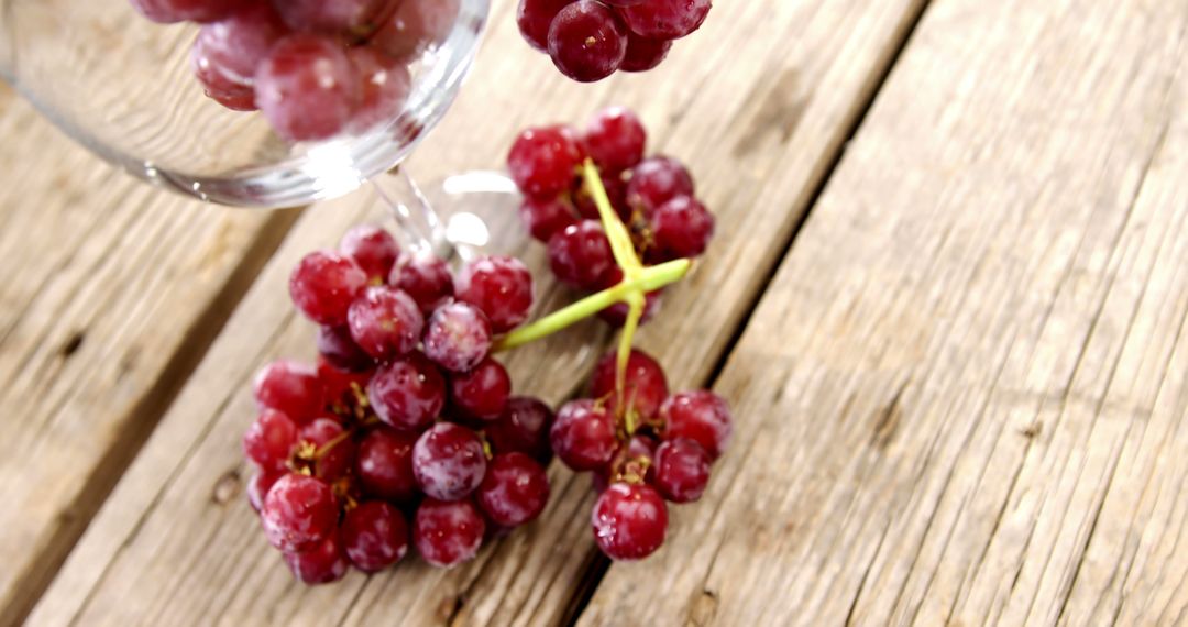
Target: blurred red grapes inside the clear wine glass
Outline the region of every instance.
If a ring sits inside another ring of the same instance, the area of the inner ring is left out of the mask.
[[[399,112],[410,64],[449,34],[459,0],[131,0],[157,23],[202,24],[194,72],[278,135],[356,133]]]

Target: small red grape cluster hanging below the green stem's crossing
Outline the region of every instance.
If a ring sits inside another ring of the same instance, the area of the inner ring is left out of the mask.
[[[599,549],[630,560],[664,543],[665,501],[701,498],[733,420],[713,392],[670,394],[664,369],[639,350],[630,354],[620,393],[617,360],[611,353],[599,361],[590,398],[557,410],[549,439],[565,466],[594,475],[600,495],[590,521]]]

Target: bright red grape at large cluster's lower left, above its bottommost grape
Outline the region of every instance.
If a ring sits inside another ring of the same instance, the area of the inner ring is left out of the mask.
[[[290,473],[273,483],[260,511],[264,534],[285,552],[303,551],[333,536],[339,504],[329,483]]]

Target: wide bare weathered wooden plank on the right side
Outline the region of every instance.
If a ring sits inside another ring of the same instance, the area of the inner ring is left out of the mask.
[[[935,2],[581,625],[1188,619],[1188,5]]]

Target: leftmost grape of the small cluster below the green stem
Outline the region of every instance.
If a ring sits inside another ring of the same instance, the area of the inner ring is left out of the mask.
[[[614,457],[619,441],[614,417],[593,399],[564,404],[549,430],[554,452],[569,468],[596,470]]]

